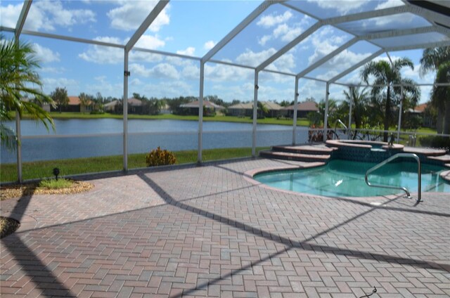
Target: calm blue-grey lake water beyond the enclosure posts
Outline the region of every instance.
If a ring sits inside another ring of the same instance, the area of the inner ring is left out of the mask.
[[[23,162],[123,153],[121,119],[55,119],[55,124],[56,132],[49,132],[31,120],[21,122]],[[6,125],[15,129],[13,122]],[[198,148],[198,122],[195,121],[130,119],[128,132],[129,153],[146,153],[158,146],[172,151]],[[297,127],[297,143],[306,140],[307,129]],[[258,124],[257,146],[291,142],[292,127]],[[203,122],[204,149],[239,147],[252,147],[252,124]],[[15,161],[16,154],[2,147],[1,163]]]

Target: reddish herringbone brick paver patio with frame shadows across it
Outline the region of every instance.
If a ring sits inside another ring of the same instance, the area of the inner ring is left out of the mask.
[[[243,178],[288,163],[97,176],[88,193],[3,201],[22,225],[1,240],[1,297],[450,296],[450,194],[414,206]]]

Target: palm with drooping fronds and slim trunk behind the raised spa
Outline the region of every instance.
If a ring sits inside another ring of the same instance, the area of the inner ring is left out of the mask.
[[[410,98],[412,101],[418,101],[420,98],[420,89],[418,86],[406,86],[406,84],[413,84],[411,79],[402,79],[400,70],[403,67],[409,67],[411,70],[414,70],[413,62],[409,58],[399,58],[392,62],[392,65],[388,63],[386,60],[379,60],[377,62],[371,61],[367,63],[363,70],[361,71],[361,77],[364,79],[366,83],[368,83],[368,78],[372,75],[374,77],[373,88],[372,88],[372,96],[381,98],[384,102],[385,108],[385,119],[383,121],[384,130],[383,133],[383,141],[387,142],[387,131],[389,130],[390,124],[392,124],[392,101],[397,97],[399,97],[401,93],[401,84],[405,84],[404,93],[411,93]],[[395,86],[394,86],[395,85]],[[386,96],[384,96],[384,92],[386,92]],[[383,96],[380,96],[383,94]]]

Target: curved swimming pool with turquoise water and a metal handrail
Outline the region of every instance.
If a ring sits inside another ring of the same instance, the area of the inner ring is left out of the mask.
[[[253,179],[274,188],[298,193],[341,197],[372,197],[394,195],[401,190],[373,188],[366,184],[366,171],[374,163],[331,160],[322,167],[270,171],[256,174]],[[422,191],[450,193],[450,183],[439,177],[442,167],[422,164]],[[392,162],[373,171],[368,181],[374,184],[404,186],[413,193],[417,191],[417,164]]]

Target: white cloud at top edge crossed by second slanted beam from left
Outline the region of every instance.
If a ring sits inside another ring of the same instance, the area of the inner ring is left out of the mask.
[[[113,8],[107,13],[111,27],[124,31],[136,30],[157,3],[158,1],[122,1],[121,6]],[[155,18],[148,30],[158,32],[162,26],[168,25],[170,22],[168,10],[169,5]]]

